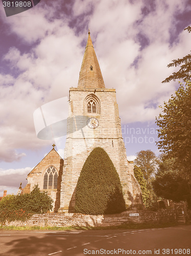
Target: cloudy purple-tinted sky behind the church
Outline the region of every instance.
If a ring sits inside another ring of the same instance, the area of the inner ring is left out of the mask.
[[[190,17],[188,0],[41,0],[9,17],[0,2],[0,196],[24,187],[52,150],[33,114],[78,86],[88,28],[105,86],[116,89],[128,160],[141,150],[159,155],[155,117],[178,88],[161,81],[177,70],[168,63],[190,52]]]

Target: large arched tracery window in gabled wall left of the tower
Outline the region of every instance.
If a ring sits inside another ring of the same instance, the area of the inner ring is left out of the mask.
[[[58,173],[56,168],[51,165],[46,169],[43,180],[43,189],[57,189]]]

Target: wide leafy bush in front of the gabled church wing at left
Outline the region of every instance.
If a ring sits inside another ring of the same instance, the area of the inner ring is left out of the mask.
[[[53,200],[35,185],[30,194],[8,195],[0,201],[0,223],[26,221],[33,214],[44,214],[53,208]]]

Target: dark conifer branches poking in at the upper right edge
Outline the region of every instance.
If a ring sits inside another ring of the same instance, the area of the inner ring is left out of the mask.
[[[188,30],[188,32],[191,32],[191,27],[187,27],[184,30]],[[178,72],[174,72],[171,76],[167,77],[165,80],[162,81],[164,82],[170,82],[171,80],[176,80],[176,79],[182,79],[184,82],[190,81],[190,75],[191,75],[191,54],[188,54],[184,56],[181,59],[174,59],[172,60],[173,62],[170,63],[167,67],[177,67],[181,64],[180,69]]]

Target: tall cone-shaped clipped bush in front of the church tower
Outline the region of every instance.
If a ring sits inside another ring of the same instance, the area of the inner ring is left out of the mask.
[[[87,157],[76,187],[75,212],[99,215],[126,210],[116,169],[101,147]]]

